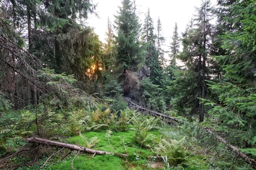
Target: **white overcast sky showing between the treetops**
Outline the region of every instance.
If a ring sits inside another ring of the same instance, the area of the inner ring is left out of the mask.
[[[112,22],[115,20],[114,15],[119,11],[118,6],[121,6],[121,0],[93,0],[93,3],[98,3],[96,12],[100,18],[90,16],[87,20],[88,26],[94,28],[99,39],[105,42],[105,32],[107,31],[108,16]],[[212,0],[212,6],[215,5],[216,0]],[[185,31],[186,24],[193,17],[195,6],[201,5],[201,0],[136,0],[137,9],[140,11],[140,22],[143,23],[145,13],[150,8],[150,15],[154,20],[156,29],[157,19],[160,17],[163,27],[163,36],[166,37],[166,45],[172,42],[172,34],[177,22],[178,32]],[[181,34],[180,34],[181,35]],[[166,50],[168,48],[166,47]]]

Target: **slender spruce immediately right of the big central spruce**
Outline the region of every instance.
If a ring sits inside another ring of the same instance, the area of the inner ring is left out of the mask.
[[[157,78],[160,77],[161,67],[158,61],[157,48],[155,47],[156,36],[154,34],[154,23],[150,16],[149,8],[145,15],[142,40],[143,45],[146,46],[145,64],[150,69],[151,81],[155,84],[159,84],[159,82],[157,82]]]

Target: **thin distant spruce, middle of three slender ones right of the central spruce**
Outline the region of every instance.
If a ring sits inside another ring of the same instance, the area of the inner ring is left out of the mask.
[[[163,28],[160,17],[157,20],[157,53],[158,60],[160,61],[160,65],[165,65],[166,59],[164,58],[165,51],[163,50],[164,42],[166,41],[165,37],[163,37]]]

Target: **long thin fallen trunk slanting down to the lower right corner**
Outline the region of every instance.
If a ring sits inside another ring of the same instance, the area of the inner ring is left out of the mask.
[[[176,119],[176,118],[173,118],[171,116],[164,115],[162,113],[157,113],[156,111],[148,110],[147,108],[145,108],[143,106],[140,106],[140,105],[137,105],[134,102],[131,102],[131,100],[128,99],[128,98],[125,98],[125,101],[128,102],[128,104],[129,104],[128,106],[130,108],[133,108],[134,110],[140,111],[142,113],[148,113],[148,114],[150,114],[151,116],[154,116],[154,117],[160,116],[161,118],[169,119],[169,121],[172,121],[172,122],[181,122],[180,119]],[[229,144],[225,139],[223,139],[221,136],[216,135],[212,130],[207,129],[206,132],[208,132],[210,134],[213,134],[216,137],[216,139],[218,139],[219,142],[226,144],[231,150],[233,150],[233,152],[235,152],[238,156],[240,156],[242,159],[244,159],[244,161],[250,163],[251,167],[253,167],[253,169],[256,169],[256,161],[254,159],[250,158],[249,156],[247,156],[246,154],[244,154],[243,152],[238,150],[237,147],[233,146],[232,144]]]

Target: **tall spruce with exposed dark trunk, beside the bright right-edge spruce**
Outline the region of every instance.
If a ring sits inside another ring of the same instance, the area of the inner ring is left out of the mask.
[[[181,108],[190,108],[191,114],[198,113],[199,122],[203,122],[205,108],[201,99],[207,96],[205,80],[210,76],[208,70],[212,34],[212,26],[209,23],[212,17],[210,1],[202,1],[201,7],[196,9],[198,11],[196,23],[188,26],[183,33],[183,52],[179,56],[186,63],[187,70],[174,83],[177,83],[177,88],[186,89],[182,92],[178,105]]]

